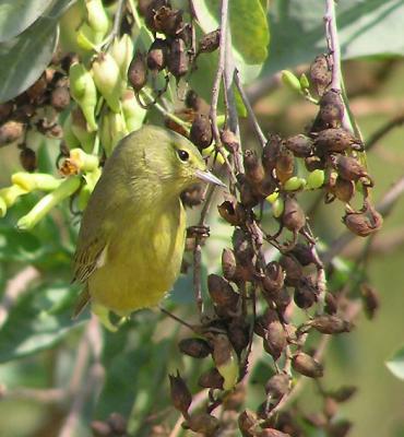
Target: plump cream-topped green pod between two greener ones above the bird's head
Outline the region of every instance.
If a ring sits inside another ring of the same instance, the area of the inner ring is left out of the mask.
[[[121,96],[120,71],[117,62],[109,54],[99,54],[92,66],[95,85],[109,108],[119,113]]]

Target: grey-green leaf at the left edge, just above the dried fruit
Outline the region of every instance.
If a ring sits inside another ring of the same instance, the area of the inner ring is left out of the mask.
[[[58,40],[58,17],[70,3],[54,1],[22,34],[0,44],[0,103],[24,92],[46,69]]]

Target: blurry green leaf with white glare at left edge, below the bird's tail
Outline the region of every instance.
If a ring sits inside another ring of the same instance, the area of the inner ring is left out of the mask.
[[[75,296],[67,284],[41,284],[24,294],[0,329],[0,363],[52,347],[76,328],[71,320]]]

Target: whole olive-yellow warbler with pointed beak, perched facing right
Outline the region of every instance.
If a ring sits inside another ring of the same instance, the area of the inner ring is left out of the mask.
[[[185,247],[180,193],[198,181],[222,185],[186,138],[144,126],[107,160],[84,211],[74,277],[85,284],[75,314],[90,300],[109,329],[109,311],[124,317],[153,307],[170,290]]]

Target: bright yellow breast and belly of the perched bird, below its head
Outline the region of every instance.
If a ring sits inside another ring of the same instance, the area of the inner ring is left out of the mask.
[[[140,220],[119,214],[105,258],[88,279],[88,292],[94,303],[126,316],[157,305],[171,288],[180,271],[186,217],[179,201],[175,208],[142,213]]]

